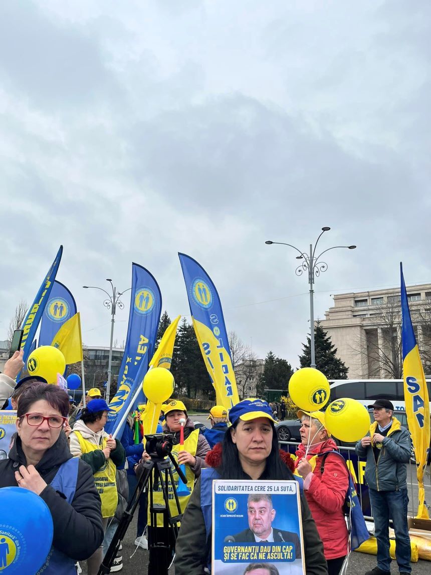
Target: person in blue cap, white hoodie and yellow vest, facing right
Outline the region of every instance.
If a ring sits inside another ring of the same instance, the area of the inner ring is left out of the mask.
[[[126,454],[119,439],[103,431],[110,411],[104,399],[94,399],[82,409],[69,436],[70,451],[91,466],[102,501],[103,531],[117,508],[116,469],[124,465]],[[87,559],[88,575],[97,575],[103,558],[100,546]]]

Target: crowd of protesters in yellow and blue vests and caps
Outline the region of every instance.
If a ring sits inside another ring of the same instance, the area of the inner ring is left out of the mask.
[[[9,457],[0,461],[0,488],[29,489],[48,505],[53,542],[44,574],[72,575],[79,569],[78,562],[86,561],[88,575],[96,575],[122,512],[150,459],[144,449],[142,430],[136,424],[137,415],[130,414],[121,439],[113,439],[104,431],[109,406],[99,389],[88,391],[85,407],[75,407],[64,390],[48,385],[41,377],[25,377],[16,383],[22,367],[22,352],[16,352],[0,374],[0,407],[10,405],[17,410],[17,432],[11,441]],[[406,488],[409,432],[393,417],[390,402],[378,400],[372,409],[375,423],[356,445],[357,453],[367,459],[365,478],[378,542],[377,566],[366,575],[390,573],[389,516],[394,522],[400,573],[410,573]],[[177,526],[178,538],[170,530],[166,541],[168,553],[149,553],[148,573],[157,572],[160,562],[164,562],[167,571],[172,560],[176,575],[210,572],[211,485],[217,478],[300,481],[306,573],[341,572],[349,553],[343,512],[349,471],[326,430],[323,412],[298,412],[302,422],[301,444],[294,458],[279,450],[274,427],[278,419],[286,416],[284,402],[243,400],[229,411],[216,405],[209,412],[210,427],[204,431],[195,428],[179,400],[164,404],[161,415],[163,427],[157,431],[175,436],[173,451],[186,477],[186,494],[179,496],[183,518]],[[143,490],[135,544],[144,550],[148,549],[148,540],[166,537],[163,517],[151,527],[148,499],[147,491]],[[153,488],[151,499],[154,504],[163,504],[160,485]],[[175,498],[170,500],[171,504],[171,514],[175,516],[178,514]],[[270,500],[265,505],[271,509]],[[301,558],[299,539],[297,544],[297,555]],[[120,545],[110,572],[120,571],[122,566]],[[245,573],[259,569],[277,572],[265,563],[245,567]]]

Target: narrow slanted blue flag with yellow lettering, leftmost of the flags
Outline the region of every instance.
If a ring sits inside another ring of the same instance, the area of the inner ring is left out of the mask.
[[[30,355],[30,347],[33,343],[34,334],[36,333],[37,326],[40,323],[45,306],[49,300],[62,254],[63,246],[60,246],[60,249],[55,256],[55,260],[52,262],[52,266],[49,268],[47,275],[45,275],[44,281],[39,288],[39,292],[37,292],[37,295],[34,298],[33,305],[30,306],[25,320],[22,323],[21,329],[24,330],[24,333],[22,334],[21,349],[24,350],[24,357],[22,358],[24,363],[27,362],[28,356]]]

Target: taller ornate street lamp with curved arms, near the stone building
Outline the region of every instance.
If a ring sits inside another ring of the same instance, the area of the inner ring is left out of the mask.
[[[297,247],[292,246],[292,244],[286,244],[284,241],[265,241],[265,244],[280,244],[282,246],[288,246],[294,248],[299,252],[297,255],[297,259],[302,259],[302,263],[297,267],[295,270],[296,275],[302,275],[304,272],[308,273],[308,282],[310,286],[310,352],[311,352],[311,364],[310,367],[314,367],[315,369],[315,354],[314,354],[314,277],[319,277],[319,275],[328,269],[328,264],[326,262],[320,261],[320,258],[323,254],[325,254],[329,250],[335,250],[336,248],[347,248],[348,250],[355,250],[356,246],[333,246],[332,248],[328,248],[319,254],[318,256],[315,255],[315,249],[317,247],[318,241],[320,240],[321,236],[328,232],[330,228],[325,226],[322,228],[320,236],[315,240],[314,247],[313,244],[310,244],[310,251],[307,254],[304,251],[298,250]]]

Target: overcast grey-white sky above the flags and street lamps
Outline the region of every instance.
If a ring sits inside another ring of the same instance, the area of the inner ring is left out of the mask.
[[[0,3],[0,339],[60,244],[84,343],[135,261],[190,313],[177,252],[205,267],[226,327],[298,366],[295,252],[322,226],[330,294],[431,281],[431,3]],[[106,284],[106,285],[104,285]],[[100,295],[99,295],[100,294]],[[129,298],[114,338],[126,336]]]

